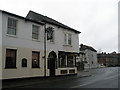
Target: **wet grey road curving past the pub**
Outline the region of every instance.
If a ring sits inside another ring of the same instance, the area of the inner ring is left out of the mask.
[[[90,73],[92,76],[89,77],[49,81],[18,88],[118,88],[118,67],[91,69]]]

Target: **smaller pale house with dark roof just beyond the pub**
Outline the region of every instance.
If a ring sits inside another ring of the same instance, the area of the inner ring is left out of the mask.
[[[80,52],[85,53],[84,68],[97,68],[98,67],[97,51],[93,47],[81,44]]]

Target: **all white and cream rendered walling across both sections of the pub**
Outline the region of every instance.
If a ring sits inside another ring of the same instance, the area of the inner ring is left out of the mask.
[[[20,18],[16,18],[13,16],[9,16],[4,14],[2,16],[2,33],[3,33],[3,79],[8,78],[20,78],[20,77],[34,77],[34,76],[44,76],[44,26],[35,24],[29,21],[25,21]],[[11,37],[7,35],[7,20],[8,17],[18,20],[17,21],[17,35],[15,37]],[[32,25],[37,25],[40,27],[39,32],[39,40],[32,40]],[[51,26],[47,24],[47,27]],[[64,47],[64,29],[58,28],[57,26],[52,25],[55,31],[55,42],[51,43],[47,41],[47,56],[53,50],[58,55],[58,51],[66,51],[66,52],[79,52],[79,40],[78,34],[75,34],[72,31],[67,30],[67,32],[72,34],[72,46]],[[6,48],[17,49],[17,69],[5,69],[5,54]],[[67,48],[67,49],[66,49]],[[40,52],[40,68],[31,68],[31,58],[32,51]],[[28,60],[27,68],[21,67],[22,58],[26,58]],[[47,61],[46,61],[46,69],[47,69]],[[67,68],[67,70],[73,68]],[[75,73],[77,73],[76,67],[74,67]],[[56,75],[60,75],[60,68],[56,69]],[[49,70],[46,70],[47,76],[49,76]],[[9,74],[8,74],[9,73]],[[69,73],[68,73],[69,74]]]

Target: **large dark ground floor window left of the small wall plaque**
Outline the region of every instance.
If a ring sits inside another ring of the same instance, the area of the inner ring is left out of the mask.
[[[16,68],[16,52],[15,49],[6,49],[5,68]]]

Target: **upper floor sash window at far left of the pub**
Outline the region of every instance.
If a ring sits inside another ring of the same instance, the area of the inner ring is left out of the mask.
[[[8,18],[7,34],[16,35],[16,31],[17,31],[17,20]]]

